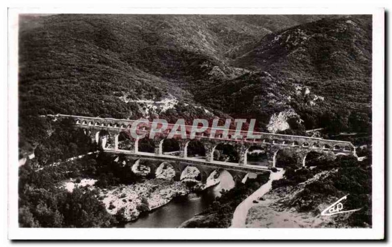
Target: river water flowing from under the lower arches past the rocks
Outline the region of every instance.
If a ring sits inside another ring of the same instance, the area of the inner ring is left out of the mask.
[[[230,190],[235,183],[227,171],[221,172],[219,184],[209,187],[202,192],[190,193],[186,196],[173,198],[168,204],[159,207],[149,214],[140,216],[134,222],[127,222],[118,227],[147,227],[147,228],[173,228],[182,222],[191,219],[195,214],[206,209],[222,189]]]

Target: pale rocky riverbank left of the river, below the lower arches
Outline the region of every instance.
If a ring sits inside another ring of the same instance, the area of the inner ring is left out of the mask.
[[[164,167],[157,171],[156,178],[143,179],[130,185],[117,185],[109,188],[95,186],[96,179],[77,178],[62,183],[62,187],[73,192],[76,187],[88,186],[98,191],[98,199],[104,204],[106,211],[116,216],[119,222],[130,222],[139,218],[140,214],[161,207],[178,196],[185,196],[192,191],[202,191],[220,182],[219,173],[213,173],[205,184],[196,180],[198,171],[192,167],[182,174],[181,181],[174,181],[175,171]]]

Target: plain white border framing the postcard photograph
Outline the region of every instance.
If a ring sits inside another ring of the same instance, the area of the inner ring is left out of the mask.
[[[378,8],[11,8],[8,12],[8,238],[9,239],[382,239],[384,238],[384,9]],[[373,179],[371,229],[246,228],[19,228],[18,14],[372,14]]]

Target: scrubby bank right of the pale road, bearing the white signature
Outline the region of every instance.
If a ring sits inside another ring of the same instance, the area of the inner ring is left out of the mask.
[[[355,157],[334,162],[339,166],[299,169],[272,183],[273,189],[250,208],[244,227],[371,227],[371,167]],[[305,172],[307,179],[296,182]],[[341,213],[321,215],[340,198]]]

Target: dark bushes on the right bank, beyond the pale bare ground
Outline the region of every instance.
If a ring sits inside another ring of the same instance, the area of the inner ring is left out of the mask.
[[[315,166],[313,169],[288,167],[284,178],[272,181],[272,193],[276,191],[283,195],[287,188],[292,188],[290,192],[292,197],[282,199],[282,208],[294,207],[298,212],[313,212],[314,215],[321,213],[319,204],[326,201],[333,203],[347,196],[344,208],[361,210],[341,221],[346,221],[345,223],[350,226],[369,226],[372,224],[370,160],[371,156],[364,161],[358,161],[356,157],[338,156],[333,161],[312,160],[307,165]],[[313,178],[321,172],[328,173],[318,179]],[[300,185],[303,182],[306,182],[304,187]],[[281,192],[279,192],[280,188],[282,188]]]

